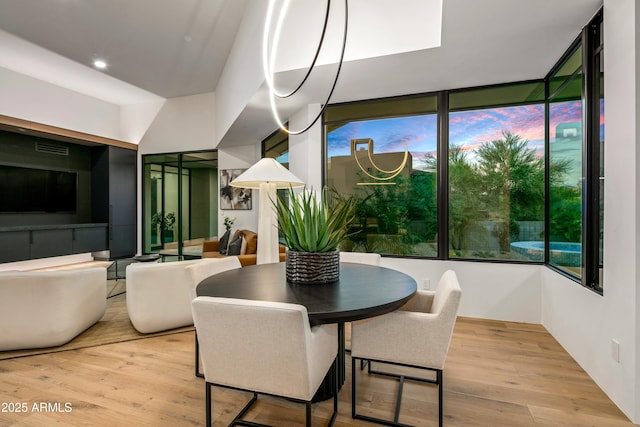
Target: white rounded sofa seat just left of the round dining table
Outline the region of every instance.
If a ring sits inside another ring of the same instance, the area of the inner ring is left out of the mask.
[[[133,263],[127,266],[127,311],[138,332],[149,334],[193,325],[186,269],[204,260]]]

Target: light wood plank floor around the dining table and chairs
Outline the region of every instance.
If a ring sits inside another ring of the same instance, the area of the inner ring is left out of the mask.
[[[203,425],[193,337],[184,332],[0,361],[0,426]],[[373,425],[351,419],[350,369],[347,377],[335,426]],[[539,325],[459,318],[444,382],[447,427],[633,426]],[[360,412],[391,411],[394,382],[361,375],[358,384]],[[214,388],[214,425],[227,425],[247,400],[246,393]],[[23,402],[26,413],[6,412]],[[41,402],[59,404],[60,412],[35,411]],[[314,405],[314,425],[326,425],[330,411],[331,402]],[[436,411],[434,388],[405,385],[402,422],[436,426]],[[304,408],[261,397],[248,418],[299,426]]]

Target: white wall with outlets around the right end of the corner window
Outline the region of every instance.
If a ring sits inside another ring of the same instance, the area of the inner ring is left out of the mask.
[[[639,11],[605,0],[604,295],[542,273],[542,324],[635,423],[640,423],[638,295]],[[612,340],[620,343],[620,361]]]

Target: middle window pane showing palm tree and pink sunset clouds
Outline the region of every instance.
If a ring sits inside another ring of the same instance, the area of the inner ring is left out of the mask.
[[[544,260],[544,84],[449,98],[449,257]]]

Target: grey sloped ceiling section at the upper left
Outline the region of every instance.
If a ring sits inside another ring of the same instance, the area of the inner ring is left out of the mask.
[[[173,98],[212,92],[245,1],[1,1],[0,28],[79,64]]]

